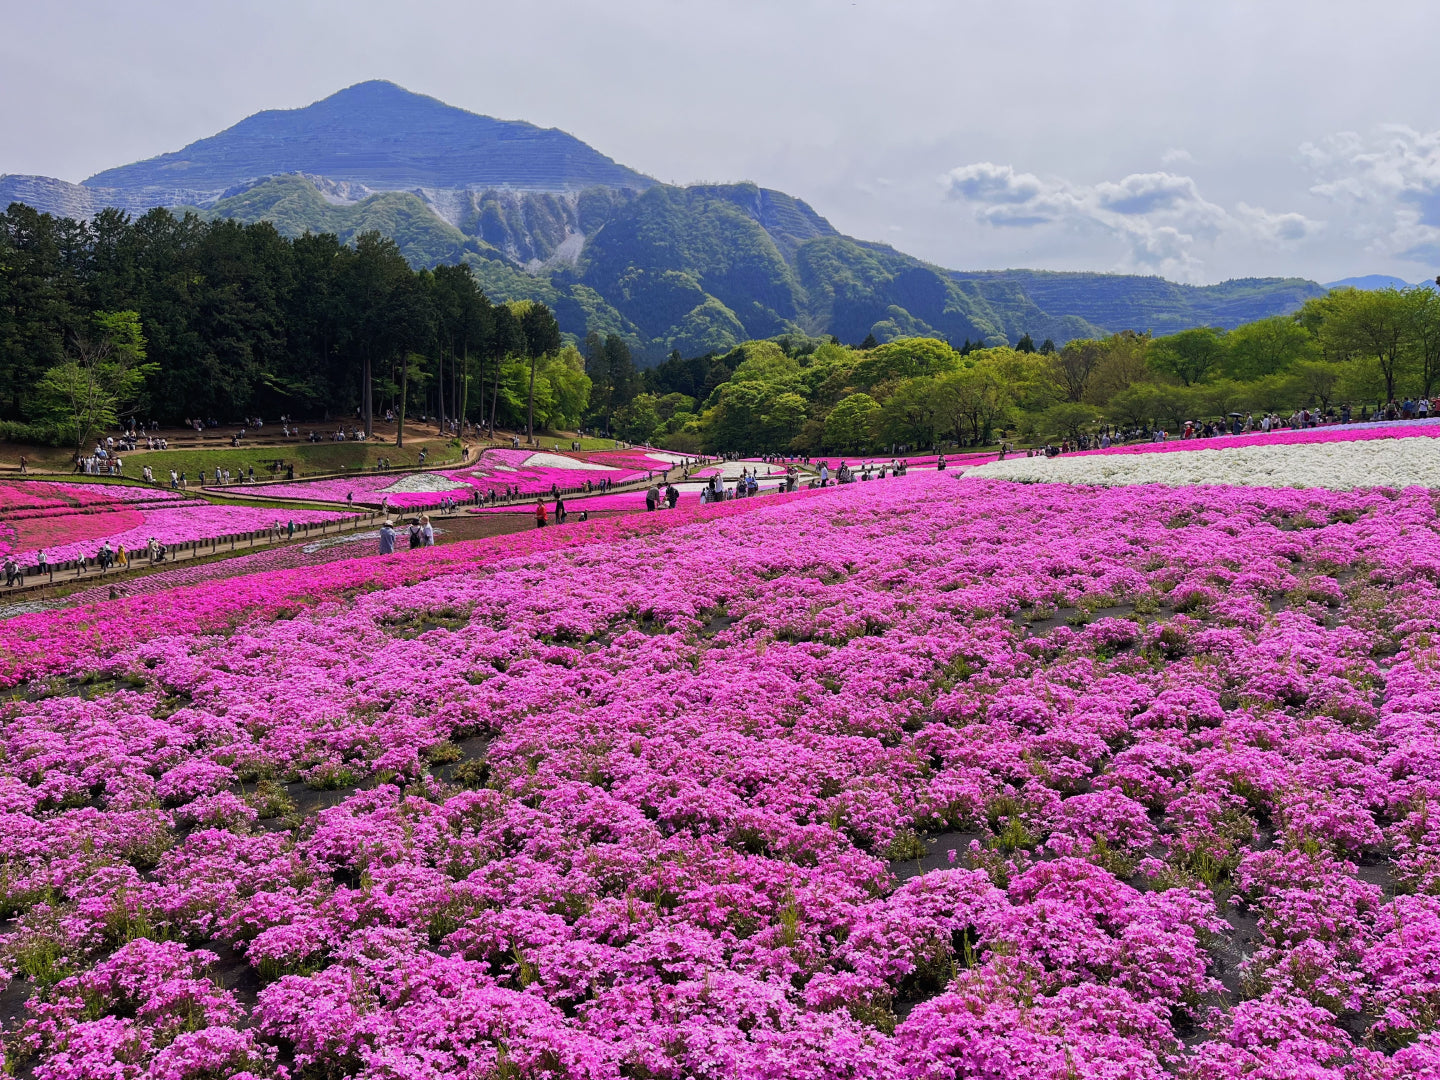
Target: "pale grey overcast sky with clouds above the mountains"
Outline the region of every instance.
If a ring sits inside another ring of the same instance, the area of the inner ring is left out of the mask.
[[[0,0],[0,173],[372,78],[956,269],[1440,272],[1434,0]]]

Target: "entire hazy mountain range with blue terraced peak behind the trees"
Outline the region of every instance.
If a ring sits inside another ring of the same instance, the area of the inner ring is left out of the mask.
[[[0,176],[10,202],[71,217],[164,206],[347,240],[376,229],[418,266],[465,261],[494,297],[540,300],[566,333],[621,334],[645,361],[783,333],[999,344],[1233,327],[1325,292],[1297,278],[948,271],[844,236],[783,192],[661,184],[563,131],[389,82],[258,112],[82,184]]]

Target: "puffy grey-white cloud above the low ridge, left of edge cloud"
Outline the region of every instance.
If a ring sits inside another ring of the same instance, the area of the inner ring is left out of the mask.
[[[942,177],[950,199],[969,204],[994,226],[1063,226],[1109,233],[1126,246],[1126,265],[1198,279],[1201,246],[1233,236],[1293,245],[1320,229],[1300,213],[1272,213],[1240,203],[1233,212],[1205,199],[1194,179],[1178,173],[1132,173],[1120,180],[1074,184],[976,161]]]

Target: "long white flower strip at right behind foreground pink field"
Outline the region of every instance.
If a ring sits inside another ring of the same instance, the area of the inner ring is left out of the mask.
[[[1440,439],[1358,439],[1231,449],[1008,458],[965,477],[1050,484],[1228,484],[1266,488],[1440,488]]]

